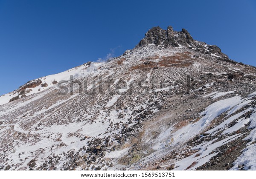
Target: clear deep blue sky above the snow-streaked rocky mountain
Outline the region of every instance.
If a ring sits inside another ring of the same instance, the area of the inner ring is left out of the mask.
[[[0,0],[0,95],[121,55],[151,27],[169,25],[256,66],[255,0]]]

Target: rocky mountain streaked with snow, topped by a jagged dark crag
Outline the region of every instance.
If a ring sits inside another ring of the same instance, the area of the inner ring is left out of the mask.
[[[186,29],[0,96],[0,170],[256,170],[256,68]]]

